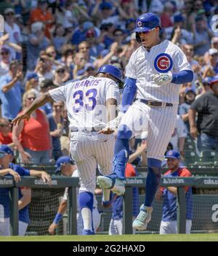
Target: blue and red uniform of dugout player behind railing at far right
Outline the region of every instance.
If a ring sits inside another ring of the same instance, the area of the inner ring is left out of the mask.
[[[171,173],[166,171],[164,177],[190,177],[190,171],[186,168],[178,168]],[[166,187],[161,187],[163,193],[163,215],[160,226],[160,234],[170,234],[177,232],[177,196],[169,192]],[[186,233],[190,233],[193,219],[192,187],[185,187],[186,200]]]

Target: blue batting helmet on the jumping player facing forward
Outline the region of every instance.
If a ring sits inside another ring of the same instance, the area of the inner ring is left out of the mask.
[[[146,32],[158,27],[161,29],[161,20],[158,18],[157,15],[151,12],[140,15],[140,17],[136,20],[136,27],[134,28],[134,32],[136,32],[137,42],[141,42],[138,32]]]

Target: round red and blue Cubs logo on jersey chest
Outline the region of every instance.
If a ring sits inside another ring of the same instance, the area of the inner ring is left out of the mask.
[[[172,59],[167,53],[159,54],[154,61],[155,69],[160,73],[167,73],[171,69],[172,64]]]

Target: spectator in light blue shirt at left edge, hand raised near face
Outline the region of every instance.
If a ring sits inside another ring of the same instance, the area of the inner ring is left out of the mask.
[[[18,61],[9,64],[9,73],[0,78],[1,115],[14,119],[22,107],[23,72]]]

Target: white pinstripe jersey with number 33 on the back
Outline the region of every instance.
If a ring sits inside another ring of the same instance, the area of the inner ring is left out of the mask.
[[[107,123],[106,101],[120,101],[118,85],[105,77],[88,77],[49,90],[54,101],[65,101],[70,128],[98,128]]]

